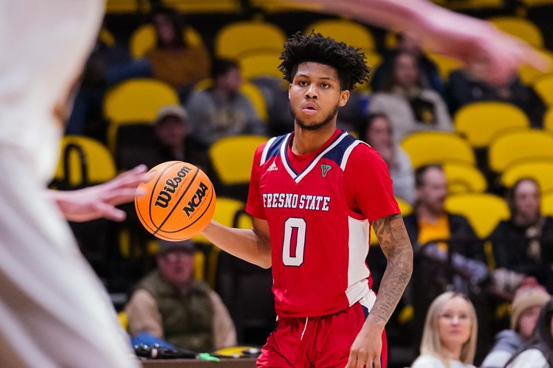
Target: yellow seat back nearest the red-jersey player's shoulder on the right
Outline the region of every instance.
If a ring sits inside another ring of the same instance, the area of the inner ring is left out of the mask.
[[[450,161],[476,164],[476,157],[469,142],[453,133],[412,133],[403,139],[401,146],[411,157],[414,168]]]

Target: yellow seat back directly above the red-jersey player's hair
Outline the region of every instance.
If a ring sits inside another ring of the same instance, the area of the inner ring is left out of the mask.
[[[312,31],[332,37],[355,48],[375,50],[375,39],[366,26],[347,19],[325,19],[311,23],[304,32],[309,35]]]

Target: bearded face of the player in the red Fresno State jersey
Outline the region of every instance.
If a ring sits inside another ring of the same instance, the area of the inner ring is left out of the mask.
[[[349,90],[341,90],[335,68],[312,61],[299,64],[288,88],[290,112],[296,124],[307,130],[336,124],[338,108],[349,96]]]

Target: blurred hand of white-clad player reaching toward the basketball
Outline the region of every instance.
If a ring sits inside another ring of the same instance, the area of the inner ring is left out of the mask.
[[[137,191],[136,186],[146,179],[146,172],[146,166],[140,165],[103,184],[50,193],[69,221],[84,222],[101,217],[122,221],[126,214],[115,206],[131,202],[135,195],[143,194]]]

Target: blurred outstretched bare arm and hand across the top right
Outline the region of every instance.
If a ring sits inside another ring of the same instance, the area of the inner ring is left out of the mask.
[[[427,0],[296,1],[397,32],[409,31],[430,50],[465,62],[484,59],[490,82],[507,81],[522,64],[542,70],[549,66],[547,59],[526,43],[496,30],[487,21],[451,12]]]

